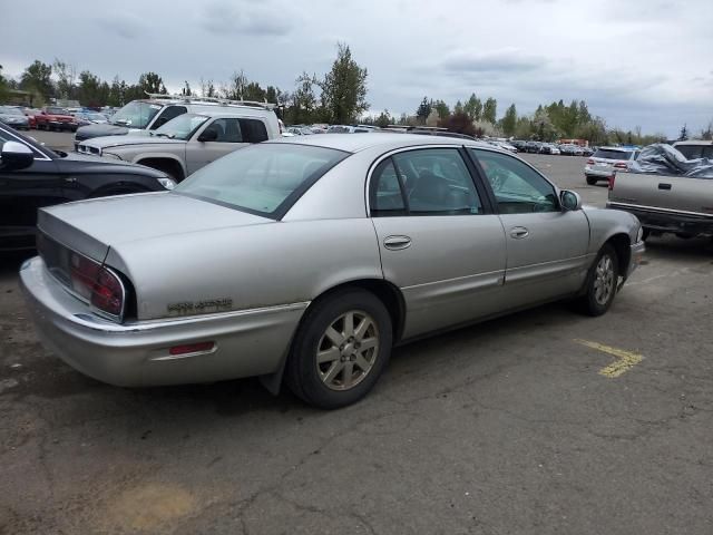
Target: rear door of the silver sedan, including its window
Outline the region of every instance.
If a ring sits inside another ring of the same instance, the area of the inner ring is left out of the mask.
[[[384,276],[406,301],[404,338],[497,312],[505,234],[458,147],[384,157],[369,197]]]

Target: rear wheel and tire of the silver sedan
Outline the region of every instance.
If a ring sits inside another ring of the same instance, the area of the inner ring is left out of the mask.
[[[391,317],[381,300],[360,289],[335,292],[306,311],[287,358],[285,381],[314,407],[352,405],[379,380],[391,343]]]

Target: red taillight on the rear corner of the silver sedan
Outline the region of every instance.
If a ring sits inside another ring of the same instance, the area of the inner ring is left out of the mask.
[[[71,253],[70,265],[71,289],[97,310],[120,320],[126,299],[121,280],[111,270],[77,253]]]

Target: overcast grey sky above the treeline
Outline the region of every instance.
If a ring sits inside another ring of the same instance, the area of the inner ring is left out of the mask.
[[[50,9],[51,6],[51,9]],[[713,119],[713,0],[0,0],[4,74],[58,57],[169,89],[240,69],[292,90],[348,43],[369,69],[371,111],[413,114],[423,96],[584,99],[608,126],[676,136]]]

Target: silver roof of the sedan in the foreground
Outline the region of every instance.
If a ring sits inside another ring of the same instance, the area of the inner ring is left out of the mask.
[[[413,145],[452,145],[453,147],[472,146],[494,148],[492,145],[446,136],[421,136],[418,134],[399,134],[390,132],[373,132],[369,134],[320,134],[319,136],[283,137],[264,143],[289,143],[295,145],[312,145],[316,147],[335,148],[348,153],[358,153],[372,147],[384,146],[389,149],[409,147]]]

